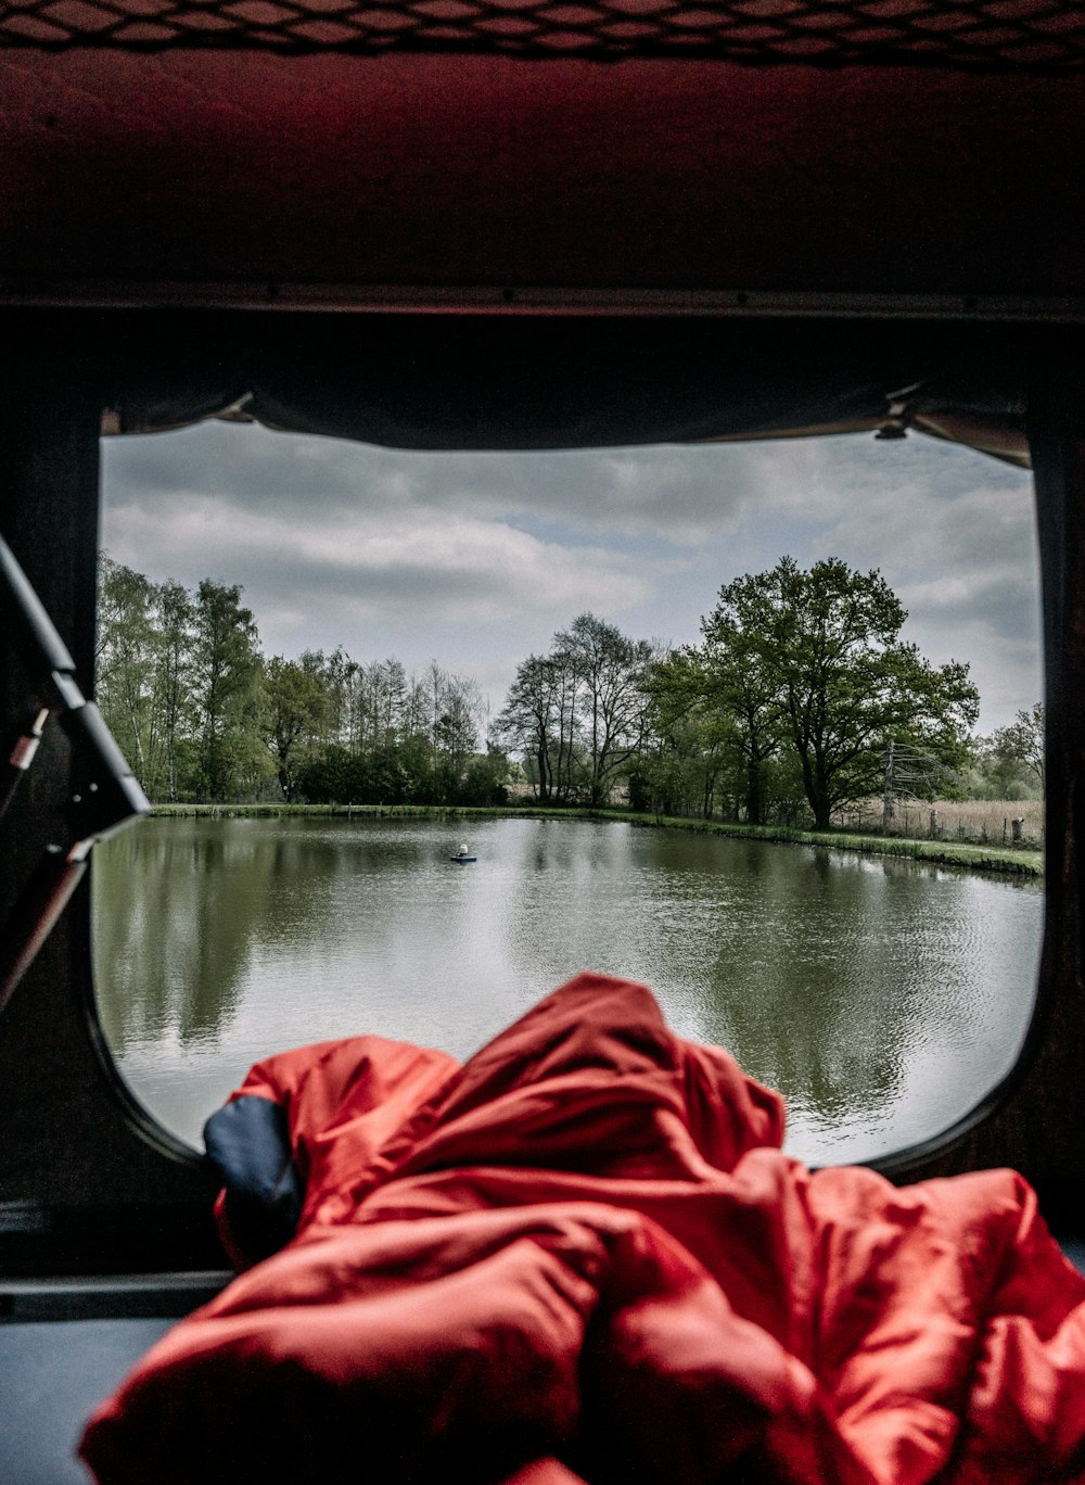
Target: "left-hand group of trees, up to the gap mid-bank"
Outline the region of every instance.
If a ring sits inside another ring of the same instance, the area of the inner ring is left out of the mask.
[[[240,587],[99,558],[96,699],[153,800],[494,803],[478,685],[341,647],[266,658]]]

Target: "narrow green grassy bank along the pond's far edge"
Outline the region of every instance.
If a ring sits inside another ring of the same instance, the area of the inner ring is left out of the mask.
[[[543,809],[539,805],[154,805],[151,817],[205,817],[212,820],[278,818],[450,818],[450,820],[622,820],[655,830],[686,830],[736,839],[769,841],[779,845],[816,845],[862,855],[896,855],[971,872],[1000,872],[1012,876],[1042,876],[1043,852],[968,845],[948,841],[914,841],[902,836],[861,835],[853,830],[790,830],[784,826],[744,826],[723,820],[689,820],[675,815],[643,815],[628,809]]]

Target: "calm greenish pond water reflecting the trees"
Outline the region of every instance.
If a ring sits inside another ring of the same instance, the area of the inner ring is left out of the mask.
[[[105,1035],[193,1143],[272,1051],[465,1059],[592,968],[778,1087],[810,1163],[934,1135],[1008,1071],[1043,910],[1027,879],[561,820],[151,820],[95,851],[94,900]]]

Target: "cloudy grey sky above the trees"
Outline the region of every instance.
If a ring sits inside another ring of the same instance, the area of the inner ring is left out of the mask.
[[[104,444],[101,545],[240,584],[264,652],[436,659],[500,710],[583,610],[695,642],[721,584],[790,552],[880,567],[904,637],[968,661],[980,729],[1040,698],[1030,480],[922,435],[568,453],[399,453],[203,423]]]

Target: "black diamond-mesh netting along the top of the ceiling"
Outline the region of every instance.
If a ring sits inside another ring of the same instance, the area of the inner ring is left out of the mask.
[[[693,56],[1073,71],[1085,4],[1054,0],[0,0],[0,48]]]

